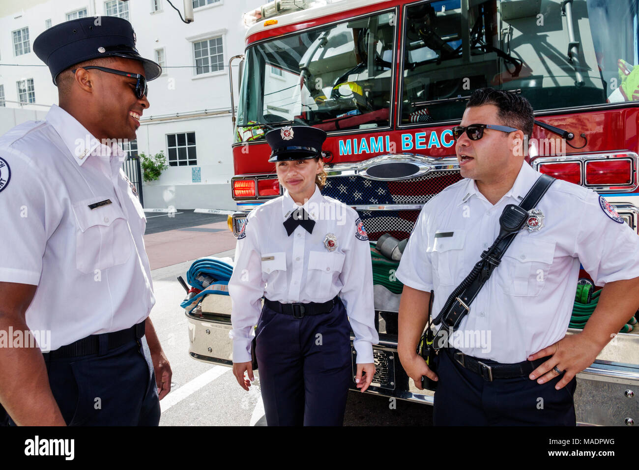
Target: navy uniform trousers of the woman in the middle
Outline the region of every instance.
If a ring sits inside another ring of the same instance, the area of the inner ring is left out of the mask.
[[[264,306],[256,331],[268,426],[341,426],[351,382],[350,324],[339,301],[295,318]]]

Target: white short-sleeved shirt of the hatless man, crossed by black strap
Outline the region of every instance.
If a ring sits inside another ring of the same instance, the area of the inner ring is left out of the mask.
[[[539,175],[524,163],[495,206],[470,179],[424,206],[396,275],[404,285],[435,290],[433,318],[497,238],[504,207],[519,205]],[[594,191],[555,181],[537,205],[544,226],[516,235],[450,338],[452,345],[501,363],[525,361],[565,336],[580,262],[598,286],[639,276],[639,237],[614,221],[604,203]]]

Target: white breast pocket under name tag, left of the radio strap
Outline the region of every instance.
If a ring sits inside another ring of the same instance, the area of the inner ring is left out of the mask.
[[[433,272],[440,285],[452,285],[457,280],[457,273],[464,263],[465,242],[463,230],[438,230],[433,235]]]

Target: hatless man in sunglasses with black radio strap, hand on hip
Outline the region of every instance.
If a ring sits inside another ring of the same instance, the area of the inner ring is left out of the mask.
[[[397,270],[399,358],[436,384],[435,425],[574,426],[575,375],[639,306],[639,237],[596,192],[530,167],[533,123],[521,95],[472,93],[453,129],[465,179],[424,206]],[[604,287],[566,336],[580,263]]]

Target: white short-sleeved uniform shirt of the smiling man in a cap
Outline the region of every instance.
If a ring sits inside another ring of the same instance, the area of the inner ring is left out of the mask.
[[[9,168],[0,177],[10,171],[0,191],[0,281],[38,286],[26,321],[51,332],[52,350],[139,323],[155,303],[146,219],[124,157],[58,106],[0,137]]]

